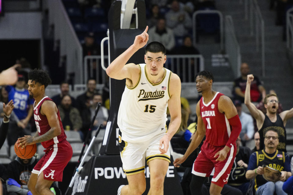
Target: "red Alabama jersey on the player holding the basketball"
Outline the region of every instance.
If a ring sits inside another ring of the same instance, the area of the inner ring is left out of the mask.
[[[47,117],[40,113],[42,103],[46,100],[53,101],[48,96],[45,96],[37,105],[35,105],[36,102],[34,103],[34,118],[35,118],[35,124],[36,124],[37,130],[38,130],[38,135],[43,135],[51,129]],[[59,110],[57,112],[57,116],[59,119],[61,134],[58,135],[57,137],[54,137],[53,139],[41,142],[44,148],[49,148],[50,146],[60,143],[62,140],[66,139],[66,134],[64,133],[64,129],[61,123]]]

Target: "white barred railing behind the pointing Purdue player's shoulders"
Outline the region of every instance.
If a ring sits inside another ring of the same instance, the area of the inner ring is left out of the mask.
[[[84,78],[96,78],[97,83],[106,84],[108,76],[101,66],[101,56],[84,57]],[[108,64],[108,56],[104,56],[104,64]],[[204,70],[204,58],[202,55],[167,55],[164,67],[178,74],[182,82],[194,82],[197,72]]]

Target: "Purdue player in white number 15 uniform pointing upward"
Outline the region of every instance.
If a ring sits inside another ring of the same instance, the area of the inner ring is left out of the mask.
[[[150,170],[148,194],[163,195],[164,178],[170,163],[169,141],[181,122],[181,82],[176,74],[163,68],[165,47],[159,42],[151,42],[145,48],[145,63],[126,64],[148,42],[147,31],[148,27],[106,70],[111,78],[126,78],[117,124],[121,131],[120,156],[128,185],[119,187],[119,195],[144,193],[145,159]],[[171,115],[168,131],[167,106]]]

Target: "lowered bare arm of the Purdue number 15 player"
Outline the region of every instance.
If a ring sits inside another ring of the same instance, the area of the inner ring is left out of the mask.
[[[170,99],[168,100],[168,107],[170,111],[170,124],[168,128],[168,132],[163,138],[160,140],[159,150],[162,154],[167,153],[169,148],[169,142],[173,135],[177,132],[180,123],[181,123],[181,102],[180,102],[180,94],[181,94],[181,81],[177,74],[171,74],[170,78]],[[172,87],[172,88],[171,88]],[[164,144],[164,148],[161,149],[162,144]]]

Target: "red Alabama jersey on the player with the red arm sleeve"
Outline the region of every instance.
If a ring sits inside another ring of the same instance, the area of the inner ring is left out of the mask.
[[[229,121],[224,113],[218,109],[219,98],[222,93],[217,92],[207,104],[203,97],[200,99],[200,115],[206,127],[206,141],[213,146],[224,146],[231,134]]]

